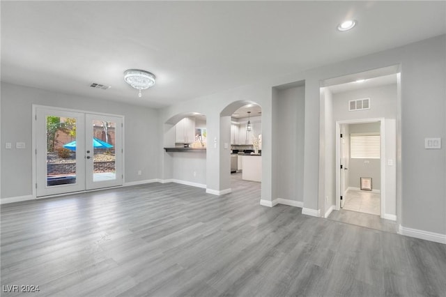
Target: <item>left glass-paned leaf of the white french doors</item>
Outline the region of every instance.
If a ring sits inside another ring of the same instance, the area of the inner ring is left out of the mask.
[[[84,114],[36,107],[35,121],[36,196],[84,190]]]

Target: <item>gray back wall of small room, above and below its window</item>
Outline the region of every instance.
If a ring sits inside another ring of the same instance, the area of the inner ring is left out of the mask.
[[[348,125],[351,134],[376,132],[380,134],[380,123],[362,123]],[[367,162],[365,162],[367,161]],[[352,159],[348,162],[348,186],[351,188],[360,188],[361,177],[372,178],[373,190],[380,190],[380,159]],[[396,197],[395,197],[396,198]]]

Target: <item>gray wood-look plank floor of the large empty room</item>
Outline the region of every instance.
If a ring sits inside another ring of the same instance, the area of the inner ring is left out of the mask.
[[[446,245],[151,183],[1,206],[1,296],[445,296]],[[5,288],[3,287],[3,288]]]

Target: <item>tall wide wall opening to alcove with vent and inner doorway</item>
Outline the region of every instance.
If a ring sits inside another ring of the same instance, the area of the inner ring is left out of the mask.
[[[396,232],[399,90],[399,66],[321,82],[325,218]]]

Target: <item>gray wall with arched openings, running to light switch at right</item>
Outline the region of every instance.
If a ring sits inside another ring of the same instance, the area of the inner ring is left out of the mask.
[[[275,186],[281,178],[272,162],[273,156],[279,153],[279,148],[274,144],[272,136],[272,120],[274,119],[272,107],[275,93],[272,86],[305,81],[303,200],[305,208],[316,212],[323,207],[319,199],[319,183],[325,183],[326,178],[325,175],[319,175],[319,162],[324,158],[318,150],[321,145],[319,137],[320,82],[330,77],[341,77],[365,70],[398,65],[401,67],[401,89],[398,91],[401,94],[401,109],[397,110],[397,121],[390,120],[394,121],[394,127],[397,123],[397,142],[401,142],[399,146],[401,149],[394,155],[394,160],[397,160],[396,167],[399,170],[397,175],[399,187],[401,187],[401,190],[397,192],[399,224],[403,227],[446,234],[445,146],[440,150],[424,149],[424,137],[442,137],[443,139],[446,137],[445,48],[446,36],[442,35],[341,63],[281,77],[266,78],[255,84],[194,98],[162,109],[160,125],[171,116],[181,112],[201,112],[207,116],[208,139],[213,141],[216,137],[217,147],[220,148],[220,112],[236,102],[255,102],[261,105],[263,137],[261,199],[272,201],[277,192],[274,190]],[[229,132],[227,134],[230,135]],[[208,146],[207,156],[208,189],[226,189],[229,182],[225,180],[229,181],[230,176],[226,174],[221,164],[229,162],[229,154],[226,158],[220,149],[213,147],[209,149]],[[164,168],[167,160],[163,155],[160,155],[160,159],[162,160],[160,167]],[[426,164],[430,166],[429,171],[420,171],[420,168],[424,168]],[[226,178],[220,178],[225,174]]]

